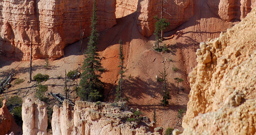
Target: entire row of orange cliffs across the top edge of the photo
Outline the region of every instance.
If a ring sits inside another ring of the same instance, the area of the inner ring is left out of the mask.
[[[80,39],[80,25],[84,37],[90,34],[92,1],[41,0],[0,1],[0,44],[7,56],[30,59],[33,33],[33,59],[57,59],[63,56],[65,45]],[[203,1],[174,0],[166,2],[164,17],[170,22],[166,31],[189,21]],[[255,7],[255,0],[207,0],[206,8],[217,18],[226,21],[241,20]],[[161,14],[161,1],[157,0],[99,0],[97,1],[98,31],[116,25],[116,18],[136,13],[139,32],[150,37],[154,32],[154,16]],[[202,16],[203,18],[203,16]]]

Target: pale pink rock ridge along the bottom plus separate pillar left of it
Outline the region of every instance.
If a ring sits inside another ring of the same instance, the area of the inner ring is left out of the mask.
[[[119,104],[120,105],[120,104]],[[62,107],[54,106],[52,114],[53,135],[161,135],[163,128],[155,128],[148,117],[142,117],[140,124],[130,111],[112,107],[110,103],[76,101],[69,106],[68,100]],[[46,104],[30,99],[22,104],[23,135],[47,134]]]

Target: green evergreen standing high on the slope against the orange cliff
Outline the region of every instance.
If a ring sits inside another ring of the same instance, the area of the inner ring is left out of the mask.
[[[156,48],[156,50],[160,52],[159,43],[162,43],[163,37],[159,36],[159,34],[170,25],[170,22],[166,22],[166,18],[158,18],[157,15],[154,18],[156,20],[156,23],[155,31],[153,34],[155,35],[155,45],[157,45],[158,47]]]

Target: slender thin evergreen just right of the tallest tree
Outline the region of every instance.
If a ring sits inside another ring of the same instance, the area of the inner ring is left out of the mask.
[[[119,101],[121,99],[121,109],[123,108],[123,97],[122,97],[122,91],[123,91],[123,73],[124,73],[124,66],[123,66],[123,60],[124,60],[124,56],[123,56],[123,44],[122,44],[122,40],[119,41],[119,59],[121,60],[120,65],[118,67],[120,67],[120,71],[119,74],[121,75],[119,81],[118,81],[118,86],[117,86],[117,90],[116,90],[116,101]]]

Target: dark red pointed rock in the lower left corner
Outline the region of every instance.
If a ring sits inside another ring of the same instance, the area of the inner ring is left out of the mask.
[[[11,130],[12,115],[6,106],[6,99],[3,100],[3,106],[0,108],[0,135],[5,135]]]

